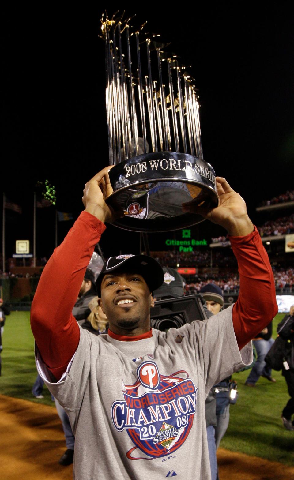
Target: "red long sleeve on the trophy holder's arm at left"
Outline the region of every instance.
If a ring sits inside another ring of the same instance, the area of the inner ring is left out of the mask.
[[[82,212],[56,248],[40,277],[31,308],[31,327],[43,361],[60,379],[80,339],[72,315],[85,270],[105,225]]]

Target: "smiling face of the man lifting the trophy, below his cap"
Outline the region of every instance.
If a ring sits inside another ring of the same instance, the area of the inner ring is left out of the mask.
[[[99,305],[110,330],[117,335],[140,335],[150,330],[150,307],[154,300],[143,276],[113,272],[103,277]]]

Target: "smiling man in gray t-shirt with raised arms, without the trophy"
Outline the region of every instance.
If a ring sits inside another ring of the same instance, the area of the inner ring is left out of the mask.
[[[40,278],[31,310],[37,368],[70,418],[75,479],[210,480],[205,398],[252,362],[250,339],[277,312],[269,259],[244,200],[217,177],[217,208],[183,209],[227,229],[239,264],[237,302],[213,322],[150,329],[162,269],[146,255],[119,255],[96,282],[108,334],[82,330],[73,305],[104,223],[120,215],[104,200],[112,191],[108,169],[86,184],[85,210]]]

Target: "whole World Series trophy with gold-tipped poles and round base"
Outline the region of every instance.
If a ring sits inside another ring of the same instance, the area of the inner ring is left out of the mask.
[[[204,220],[183,204],[219,204],[215,172],[203,160],[193,78],[159,35],[131,32],[123,15],[101,19],[106,54],[110,183],[107,204],[123,211],[114,225],[139,232]]]

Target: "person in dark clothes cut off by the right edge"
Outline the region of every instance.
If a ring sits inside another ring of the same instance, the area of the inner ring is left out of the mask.
[[[292,421],[292,415],[294,415],[294,305],[290,308],[289,315],[285,315],[282,322],[278,324],[277,332],[284,340],[290,340],[282,365],[282,375],[286,380],[291,398],[283,408],[282,422],[287,430],[294,431],[294,421]]]

